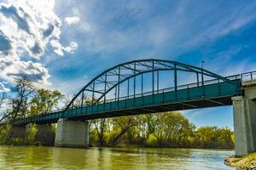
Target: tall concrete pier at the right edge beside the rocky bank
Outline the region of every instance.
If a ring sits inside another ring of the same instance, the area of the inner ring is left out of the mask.
[[[236,156],[256,151],[256,82],[243,82],[242,87],[245,95],[232,98]]]

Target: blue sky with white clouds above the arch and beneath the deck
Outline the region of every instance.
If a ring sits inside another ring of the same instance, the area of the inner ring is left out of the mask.
[[[255,1],[0,0],[0,91],[26,75],[75,94],[132,59],[201,65],[221,76],[256,70]],[[183,111],[196,126],[233,128],[232,107]]]

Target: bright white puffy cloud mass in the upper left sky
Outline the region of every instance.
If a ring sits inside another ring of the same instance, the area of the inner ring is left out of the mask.
[[[25,76],[32,82],[49,83],[49,71],[39,62],[45,50],[51,46],[56,54],[64,55],[78,48],[76,42],[62,46],[61,19],[54,8],[54,0],[0,3],[1,79],[13,82]],[[28,59],[23,60],[24,56]]]

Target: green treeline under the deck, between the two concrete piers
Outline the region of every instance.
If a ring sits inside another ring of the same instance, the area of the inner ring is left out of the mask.
[[[196,128],[180,112],[165,112],[93,120],[90,124],[90,143],[233,148],[234,133],[227,127]]]

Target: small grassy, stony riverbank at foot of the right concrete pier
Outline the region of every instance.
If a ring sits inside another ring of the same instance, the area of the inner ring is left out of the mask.
[[[256,152],[243,157],[229,156],[224,163],[230,167],[240,167],[241,169],[256,169]]]

